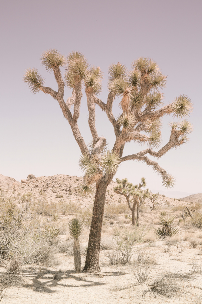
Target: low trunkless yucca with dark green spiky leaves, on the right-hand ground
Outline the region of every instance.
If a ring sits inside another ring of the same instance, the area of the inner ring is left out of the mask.
[[[159,217],[159,225],[157,229],[154,229],[154,232],[159,236],[159,237],[172,237],[173,235],[177,235],[180,231],[178,228],[175,228],[173,225],[175,216],[170,216],[167,215],[166,218]]]

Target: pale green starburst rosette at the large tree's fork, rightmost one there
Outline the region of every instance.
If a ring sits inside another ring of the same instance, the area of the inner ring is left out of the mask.
[[[121,158],[115,153],[107,151],[100,157],[100,167],[104,173],[114,173],[118,169]]]

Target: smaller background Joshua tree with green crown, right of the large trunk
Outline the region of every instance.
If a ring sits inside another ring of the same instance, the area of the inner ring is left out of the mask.
[[[114,192],[124,195],[128,203],[128,207],[132,212],[132,224],[135,225],[135,207],[137,205],[136,225],[139,226],[139,210],[140,206],[144,203],[145,199],[149,196],[149,190],[142,190],[142,187],[146,187],[145,178],[141,178],[141,183],[133,185],[129,183],[127,178],[122,180],[116,178],[117,186],[114,188]]]

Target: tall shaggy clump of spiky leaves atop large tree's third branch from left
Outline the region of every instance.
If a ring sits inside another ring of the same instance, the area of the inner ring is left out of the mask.
[[[71,71],[76,81],[81,81],[88,73],[88,62],[80,52],[72,52],[67,58],[67,68]]]

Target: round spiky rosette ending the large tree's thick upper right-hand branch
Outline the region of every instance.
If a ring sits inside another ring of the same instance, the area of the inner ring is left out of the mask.
[[[193,104],[186,95],[179,95],[171,105],[174,117],[182,118],[188,116],[193,109]]]

